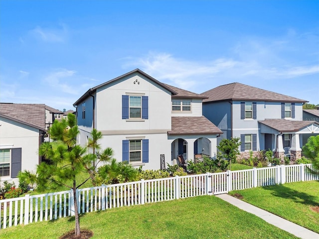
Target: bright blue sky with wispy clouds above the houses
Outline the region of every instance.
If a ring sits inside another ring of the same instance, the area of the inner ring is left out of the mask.
[[[74,109],[136,68],[195,93],[240,82],[319,104],[319,1],[0,1],[0,102]]]

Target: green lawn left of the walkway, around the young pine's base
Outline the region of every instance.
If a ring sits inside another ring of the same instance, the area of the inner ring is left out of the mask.
[[[214,196],[200,196],[81,215],[95,239],[296,238]],[[1,239],[56,239],[74,229],[74,218],[0,230]]]

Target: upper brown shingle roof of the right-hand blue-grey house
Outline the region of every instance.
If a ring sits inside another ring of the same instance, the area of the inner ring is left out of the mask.
[[[300,102],[308,101],[291,96],[282,95],[272,91],[266,91],[260,88],[244,85],[238,82],[218,86],[206,91],[201,95],[207,96],[203,102],[215,101],[268,101],[268,102]]]

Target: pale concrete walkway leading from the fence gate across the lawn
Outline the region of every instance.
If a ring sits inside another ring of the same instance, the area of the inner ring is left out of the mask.
[[[319,234],[313,231],[310,231],[297,224],[289,222],[281,217],[278,217],[272,213],[269,213],[265,210],[257,208],[249,203],[241,201],[228,194],[219,194],[215,196],[236,206],[237,208],[240,208],[246,212],[256,215],[257,217],[260,217],[261,219],[265,220],[267,223],[270,223],[282,230],[285,230],[286,232],[289,232],[295,235],[296,237],[299,237],[302,239],[319,239]]]

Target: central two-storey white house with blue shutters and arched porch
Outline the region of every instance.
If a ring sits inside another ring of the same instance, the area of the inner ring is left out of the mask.
[[[136,69],[89,89],[73,105],[84,145],[93,128],[118,161],[144,169],[172,164],[177,155],[215,156],[222,131],[202,116],[204,96],[160,83]]]

